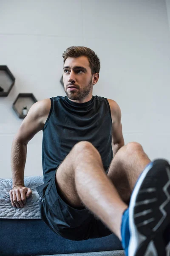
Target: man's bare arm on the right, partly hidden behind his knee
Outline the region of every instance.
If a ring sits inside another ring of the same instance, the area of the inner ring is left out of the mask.
[[[112,150],[114,157],[119,148],[125,145],[125,142],[122,134],[121,110],[119,105],[112,99],[108,99],[108,102],[112,116]]]

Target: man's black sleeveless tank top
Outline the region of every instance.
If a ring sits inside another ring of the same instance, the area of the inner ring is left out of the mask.
[[[111,147],[111,110],[108,100],[99,96],[76,103],[67,96],[51,99],[51,109],[43,128],[42,168],[44,183],[49,182],[59,164],[79,141],[91,142],[99,151],[107,171]]]

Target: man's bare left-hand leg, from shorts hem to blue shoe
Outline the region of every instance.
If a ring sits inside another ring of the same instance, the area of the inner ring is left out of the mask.
[[[72,207],[82,203],[121,239],[122,213],[127,205],[105,174],[99,152],[89,142],[77,143],[56,174],[60,195]]]

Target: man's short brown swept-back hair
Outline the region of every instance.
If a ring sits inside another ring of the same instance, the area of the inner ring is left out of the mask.
[[[90,48],[84,46],[71,46],[68,47],[62,54],[62,57],[64,58],[64,63],[66,58],[68,57],[77,58],[80,56],[86,56],[88,58],[92,75],[94,73],[99,73],[100,60],[96,53],[92,51]]]

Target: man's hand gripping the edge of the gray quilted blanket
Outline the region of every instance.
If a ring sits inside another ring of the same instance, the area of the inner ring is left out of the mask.
[[[29,198],[31,195],[31,189],[25,186],[15,186],[9,191],[11,204],[13,207],[17,208],[23,208],[26,204],[26,198]]]

